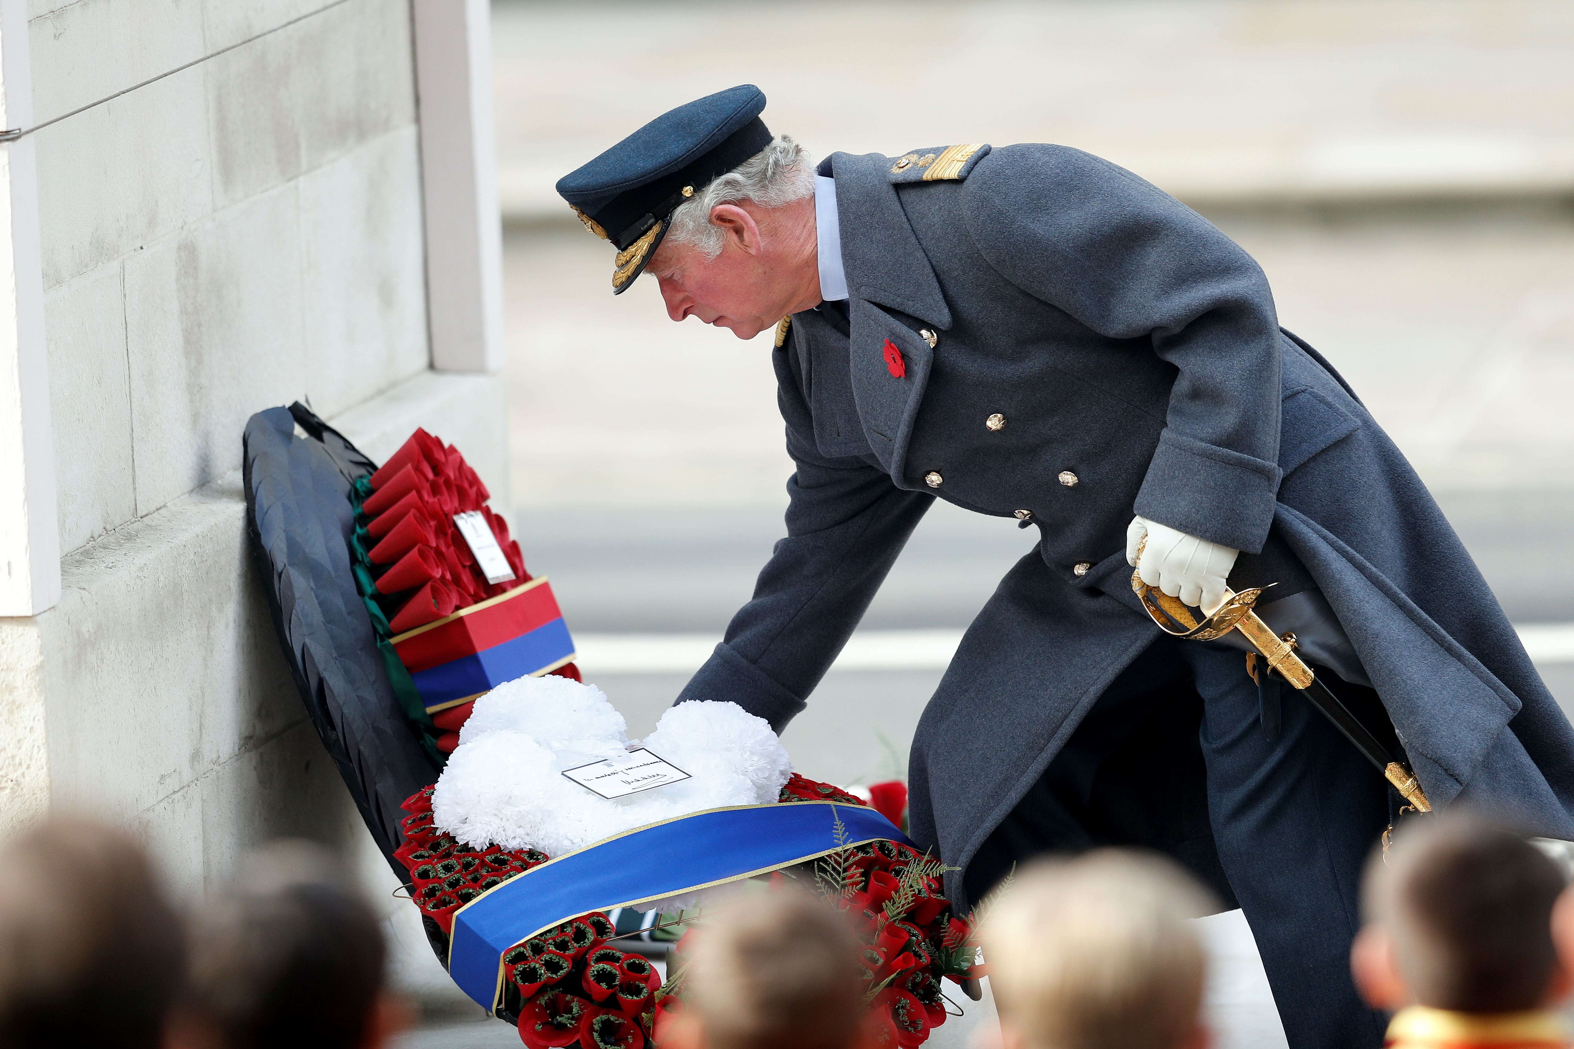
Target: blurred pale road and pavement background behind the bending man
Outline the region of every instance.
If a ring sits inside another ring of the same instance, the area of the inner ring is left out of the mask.
[[[1574,708],[1574,5],[493,13],[515,530],[633,736],[748,599],[782,533],[790,464],[770,337],[674,326],[648,282],[614,299],[611,250],[551,187],[666,109],[741,82],[817,156],[1055,142],[1203,211],[1410,456]],[[1011,522],[937,503],[787,730],[796,766],[844,783],[899,772],[946,646],[1029,547]]]

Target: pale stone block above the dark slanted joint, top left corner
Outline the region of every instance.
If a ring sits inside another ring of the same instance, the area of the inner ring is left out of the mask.
[[[197,61],[201,0],[77,0],[28,24],[33,120],[46,121]]]

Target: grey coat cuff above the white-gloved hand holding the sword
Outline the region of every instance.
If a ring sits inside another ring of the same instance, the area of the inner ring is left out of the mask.
[[[1273,462],[1166,429],[1158,436],[1135,510],[1187,535],[1261,554],[1273,524],[1278,483]]]

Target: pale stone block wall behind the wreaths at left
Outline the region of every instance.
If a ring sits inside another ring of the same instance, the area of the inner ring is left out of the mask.
[[[63,596],[0,618],[0,830],[124,823],[186,896],[304,834],[392,907],[239,466],[246,420],[302,399],[378,459],[427,426],[508,506],[499,382],[431,371],[411,0],[28,14]]]

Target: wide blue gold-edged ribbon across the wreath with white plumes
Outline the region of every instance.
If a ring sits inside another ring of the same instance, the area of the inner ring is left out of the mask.
[[[449,944],[449,975],[491,1011],[502,992],[504,951],[563,922],[881,840],[911,845],[874,808],[839,802],[711,808],[637,827],[548,860],[460,907]]]

